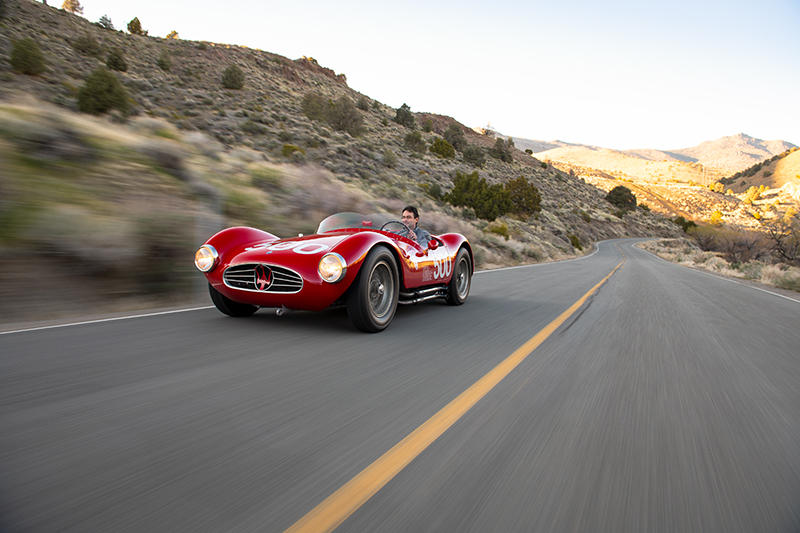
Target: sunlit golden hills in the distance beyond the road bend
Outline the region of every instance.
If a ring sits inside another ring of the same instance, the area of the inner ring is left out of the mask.
[[[550,146],[532,157],[606,191],[622,183],[640,202],[669,217],[697,222],[721,217],[734,227],[759,230],[762,221],[800,208],[798,169],[791,155],[797,147],[786,141],[740,133],[691,148],[624,151],[562,141],[514,141],[518,146]],[[752,192],[748,196],[751,186],[761,187],[756,201]]]

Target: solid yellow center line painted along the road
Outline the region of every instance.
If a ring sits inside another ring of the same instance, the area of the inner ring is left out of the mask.
[[[286,531],[294,533],[300,531],[333,531],[336,529],[430,446],[433,441],[438,439],[450,426],[464,416],[473,405],[486,396],[503,378],[510,374],[561,324],[566,322],[592,294],[608,281],[614,275],[614,272],[622,267],[624,262],[625,259],[620,261],[606,277],[589,289],[569,309],[558,315],[555,320],[517,348],[514,353],[490,370],[488,374],[442,407],[438,413],[409,433],[403,440],[395,444],[353,479],[342,485],[336,492],[325,498]]]

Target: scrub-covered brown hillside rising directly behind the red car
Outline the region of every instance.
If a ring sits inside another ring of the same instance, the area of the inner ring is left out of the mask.
[[[518,149],[492,157],[497,139],[450,117],[412,113],[415,125],[401,125],[396,109],[311,58],[131,35],[30,0],[6,0],[4,8],[0,320],[36,315],[45,303],[48,313],[70,314],[195,294],[204,301],[191,252],[225,225],[293,235],[334,211],[399,214],[413,203],[432,232],[466,234],[479,268],[677,231],[655,214],[618,211],[602,190]],[[5,60],[24,38],[42,50],[37,75]],[[78,113],[87,78],[112,53],[127,67],[112,75],[128,113]],[[223,86],[232,66],[243,74],[239,89]],[[320,119],[310,102],[346,120]],[[484,163],[430,151],[451,125]],[[491,184],[526,178],[541,193],[541,210],[490,221],[442,200],[458,173],[474,171]]]

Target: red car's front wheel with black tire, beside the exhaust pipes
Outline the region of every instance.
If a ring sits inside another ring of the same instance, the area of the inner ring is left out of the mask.
[[[397,311],[400,276],[392,253],[370,250],[347,298],[347,314],[361,331],[375,333],[389,325]]]

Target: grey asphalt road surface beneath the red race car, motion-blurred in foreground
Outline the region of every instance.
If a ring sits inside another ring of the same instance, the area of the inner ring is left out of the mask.
[[[340,531],[800,531],[800,303],[601,243],[466,305],[0,335],[0,530],[280,531],[624,266]]]

